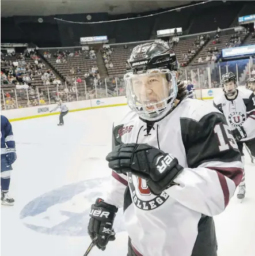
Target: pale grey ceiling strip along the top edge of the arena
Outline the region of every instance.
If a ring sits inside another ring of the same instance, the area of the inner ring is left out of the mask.
[[[145,1],[145,0],[1,0],[1,17],[47,16],[55,14],[141,13],[187,5],[191,1]]]

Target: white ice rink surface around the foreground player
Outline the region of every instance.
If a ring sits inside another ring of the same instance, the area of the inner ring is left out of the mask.
[[[111,151],[112,122],[128,107],[68,113],[13,122],[17,144],[10,195],[12,207],[1,206],[2,256],[79,256],[90,244],[90,205],[104,197],[111,176],[105,156]],[[255,255],[255,167],[246,154],[246,198],[234,196],[215,217],[218,256]],[[91,256],[127,255],[121,209],[115,242]],[[171,239],[171,238],[169,238]],[[155,255],[157,256],[157,255]],[[206,256],[206,255],[205,255]]]

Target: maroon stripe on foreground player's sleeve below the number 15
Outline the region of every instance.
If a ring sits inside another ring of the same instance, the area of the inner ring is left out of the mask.
[[[223,195],[224,195],[224,205],[225,208],[229,204],[229,187],[227,186],[227,180],[225,176],[235,183],[237,187],[242,180],[243,170],[242,168],[235,167],[206,167],[211,170],[215,170],[219,177],[220,186],[222,187]]]

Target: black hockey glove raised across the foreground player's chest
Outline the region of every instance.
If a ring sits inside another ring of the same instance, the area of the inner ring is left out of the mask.
[[[175,185],[173,180],[183,170],[176,157],[148,144],[122,144],[106,156],[109,168],[118,174],[132,172],[143,178],[154,194]]]

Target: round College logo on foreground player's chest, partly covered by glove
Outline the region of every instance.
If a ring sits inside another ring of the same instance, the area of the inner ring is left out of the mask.
[[[128,183],[134,205],[142,210],[153,210],[166,202],[169,195],[164,191],[160,195],[151,193],[144,179],[128,173]]]

